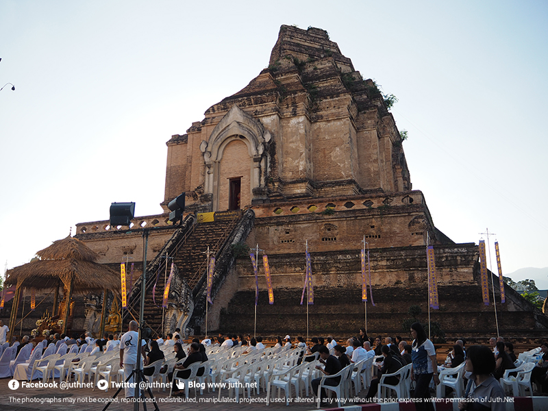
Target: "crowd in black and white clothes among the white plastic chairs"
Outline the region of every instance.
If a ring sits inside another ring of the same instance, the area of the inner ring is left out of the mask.
[[[131,333],[136,333],[137,329],[137,323],[132,321],[129,324],[129,331],[121,334],[121,338],[118,334],[104,333],[102,338],[96,340],[92,337],[92,333],[85,332],[82,335],[75,334],[73,336],[52,333],[48,340],[49,343],[55,345],[55,348],[62,344],[66,344],[68,347],[71,345],[81,347],[84,344],[88,347],[92,346],[90,355],[94,355],[99,351],[119,351],[121,369],[124,369],[124,372],[130,372],[132,367],[129,367],[129,364],[132,364],[132,360],[128,356],[133,356],[134,352],[130,353],[130,349],[127,347],[131,344],[128,346],[127,341],[128,338],[131,341]],[[366,397],[371,401],[376,400],[377,386],[382,375],[395,374],[408,364],[411,364],[410,378],[414,381],[414,390],[409,394],[414,397],[424,398],[432,395],[430,392],[431,382],[439,384],[438,372],[443,369],[462,368],[463,363],[466,371],[464,374],[466,393],[464,395],[477,398],[486,396],[491,398],[504,397],[505,392],[501,388],[499,380],[508,375],[508,370],[516,369],[516,364],[520,362],[516,358],[512,343],[505,342],[499,336],[498,338],[490,338],[489,346],[471,345],[466,347],[466,340],[460,338],[452,345],[445,362],[438,366],[434,344],[426,338],[425,331],[420,323],[412,325],[411,336],[412,340],[410,342],[400,336],[384,336],[384,338],[376,336],[372,338],[367,336],[364,329],[360,329],[358,336],[352,336],[344,341],[341,340],[340,343],[333,336],[327,336],[327,338],[313,337],[310,339],[310,344],[307,344],[301,336],[292,341],[292,338],[286,335],[284,338],[278,336],[275,338],[275,345],[269,343],[269,346],[277,352],[285,352],[290,349],[301,350],[299,364],[302,361],[317,360],[319,362],[315,365],[319,377],[312,379],[311,382],[313,393],[318,393],[322,375],[334,375],[347,366],[354,368],[353,364],[373,358],[373,371],[375,371],[376,376],[373,375],[366,393]],[[11,345],[16,347],[16,354],[18,354],[23,347],[29,344],[33,344],[32,340],[29,336],[23,336],[21,341],[14,340]],[[0,344],[2,350],[6,346],[7,343],[5,342],[3,345]],[[45,351],[46,345],[41,347]],[[167,353],[171,353],[171,356],[177,360],[177,364],[173,366],[173,371],[168,373],[168,380],[172,381],[175,377],[187,378],[190,375],[189,367],[191,364],[208,361],[206,349],[212,349],[213,347],[218,347],[221,351],[245,347],[238,352],[241,352],[241,355],[249,356],[254,355],[258,350],[264,351],[266,349],[261,336],[251,337],[250,335],[244,336],[241,334],[227,334],[226,336],[219,334],[219,336],[211,338],[205,336],[201,340],[195,338],[190,345],[185,345],[178,328],[175,329],[175,332],[166,334],[165,338],[156,336],[148,343],[143,341],[141,349],[145,367],[163,360]],[[548,393],[548,343],[542,343],[537,351],[538,357],[536,358],[536,365],[532,369],[531,380],[536,384],[536,392],[540,395],[546,395]],[[152,372],[153,369],[145,369],[145,375],[152,375]],[[202,367],[198,369],[197,375],[200,376],[206,372],[209,371]],[[512,375],[512,371],[510,371],[510,375]],[[336,381],[336,379],[327,380],[327,384],[336,385],[338,383],[339,381]],[[396,386],[399,384],[399,376],[385,377],[384,384]],[[179,395],[177,390],[177,386],[173,386],[175,395]],[[126,391],[126,396],[132,395],[132,392]],[[325,396],[323,390],[321,396]],[[432,409],[429,408],[429,403],[423,405],[423,409]],[[498,408],[495,402],[490,405],[492,410],[503,409]],[[466,406],[466,403],[460,409],[466,409],[464,406]],[[417,409],[421,408],[417,406]]]

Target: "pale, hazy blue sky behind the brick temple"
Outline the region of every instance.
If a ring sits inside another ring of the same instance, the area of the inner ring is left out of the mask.
[[[112,201],[161,212],[165,142],[268,65],[282,24],[327,30],[398,97],[439,229],[488,227],[505,273],[548,266],[546,1],[187,3],[0,0],[2,271]]]

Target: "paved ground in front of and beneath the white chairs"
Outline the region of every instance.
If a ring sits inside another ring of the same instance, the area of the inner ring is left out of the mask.
[[[13,390],[13,382],[10,383],[9,378],[0,379],[0,410],[10,410],[10,411],[37,411],[37,410],[63,410],[63,411],[82,411],[82,410],[103,410],[106,401],[112,398],[116,390],[109,389],[108,393],[105,393],[102,390],[92,390],[91,388],[67,388],[61,389],[59,386],[57,388],[36,388],[36,387],[25,387],[22,386],[23,382],[19,382],[19,388]],[[87,381],[87,380],[86,380]],[[35,379],[33,383],[38,383],[39,380]],[[51,382],[51,380],[50,380]],[[58,379],[55,379],[55,382],[58,384]],[[168,397],[169,390],[166,390],[166,393],[160,392],[155,389],[153,395],[155,400],[158,403],[158,408],[161,411],[172,411],[172,410],[208,410],[208,411],[221,411],[221,410],[288,410],[289,408],[293,411],[306,411],[306,410],[315,410],[316,403],[312,401],[311,398],[306,399],[307,402],[297,402],[295,395],[293,395],[292,402],[290,402],[290,407],[286,407],[285,401],[272,403],[267,407],[266,406],[266,394],[261,393],[260,395],[251,395],[252,403],[234,403],[234,402],[222,402],[222,403],[212,403],[205,401],[214,401],[218,399],[218,391],[216,393],[207,393],[204,390],[203,395],[198,395],[195,397],[192,389],[190,389],[190,399],[188,402],[184,397]],[[283,391],[282,391],[283,395]],[[360,396],[363,397],[365,391],[362,390]],[[149,399],[147,395],[147,399]],[[221,400],[229,399],[228,390],[223,390],[221,394]],[[280,399],[282,401],[282,399]],[[192,402],[190,402],[192,401]],[[347,405],[351,405],[348,403]],[[336,403],[334,404],[336,406]],[[108,407],[108,410],[118,411],[118,410],[133,410],[134,403],[127,403],[123,397],[123,390],[120,395],[116,397],[116,400],[111,403]],[[140,410],[145,408],[142,404],[139,407]],[[147,403],[147,410],[154,410],[153,403]]]

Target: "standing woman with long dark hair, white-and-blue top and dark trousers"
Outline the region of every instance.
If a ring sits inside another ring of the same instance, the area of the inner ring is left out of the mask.
[[[434,406],[429,401],[429,386],[432,377],[434,377],[434,384],[440,384],[436,349],[432,341],[426,337],[426,332],[421,323],[411,325],[411,336],[413,337],[411,379],[416,382],[414,398],[423,399],[423,401],[415,402],[416,410],[434,411]],[[424,401],[424,399],[427,400]]]

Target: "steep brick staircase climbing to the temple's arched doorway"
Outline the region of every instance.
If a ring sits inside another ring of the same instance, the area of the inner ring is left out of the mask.
[[[210,256],[213,256],[223,246],[238,220],[239,218],[227,221],[196,223],[192,232],[186,236],[184,243],[179,245],[176,251],[171,251],[171,255],[174,254],[173,261],[176,266],[174,276],[177,276],[179,281],[183,280],[183,282],[186,282],[190,289],[195,288],[201,277],[206,273],[208,246],[211,251]],[[152,329],[153,335],[160,334],[162,329],[164,282],[169,277],[172,261],[171,258],[168,258],[166,272],[165,255],[166,251],[160,251],[156,258],[160,258],[160,262],[156,264],[158,268],[153,272],[149,271],[151,281],[147,281],[147,292],[145,294],[145,311],[143,317],[147,325]],[[170,257],[169,252],[168,257]],[[158,270],[160,275],[158,275]],[[155,288],[154,303],[152,290],[157,277],[158,282]]]

